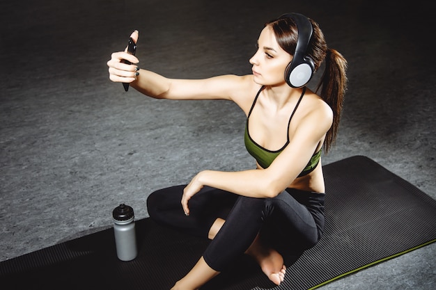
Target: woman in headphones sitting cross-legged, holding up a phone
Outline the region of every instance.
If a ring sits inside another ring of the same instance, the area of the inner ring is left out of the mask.
[[[138,32],[131,37],[136,42]],[[303,83],[293,83],[290,65],[296,64],[297,54],[306,62],[302,74],[307,67],[318,70],[325,61],[320,95],[305,87],[311,72]],[[327,48],[316,22],[291,13],[265,24],[249,62],[253,74],[199,80],[167,79],[139,70],[139,60],[125,51],[112,54],[107,63],[111,81],[130,83],[144,95],[228,99],[247,115],[245,145],[256,159],[256,169],[204,170],[186,186],[164,188],[148,197],[150,218],[212,240],[172,289],[199,289],[244,253],[278,285],[286,273],[287,252],[311,248],[322,234],[325,184],[320,153],[329,150],[338,129],[345,58]]]

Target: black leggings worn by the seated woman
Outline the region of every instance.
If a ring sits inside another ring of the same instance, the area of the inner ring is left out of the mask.
[[[275,198],[247,198],[205,186],[189,200],[185,216],[180,200],[185,185],[160,189],[147,199],[148,214],[182,232],[208,237],[217,218],[226,220],[203,253],[206,263],[223,271],[260,234],[264,243],[286,255],[315,245],[324,227],[324,193],[288,188]]]

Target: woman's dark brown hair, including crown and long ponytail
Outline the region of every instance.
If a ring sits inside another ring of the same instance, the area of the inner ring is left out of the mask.
[[[325,62],[325,70],[316,88],[316,92],[321,88],[320,97],[329,104],[333,111],[333,124],[327,131],[324,141],[324,150],[327,153],[330,146],[336,140],[339,120],[343,106],[343,98],[347,87],[347,61],[336,50],[329,49],[325,42],[318,23],[309,19],[313,27],[313,33],[306,55],[313,59],[315,70],[318,70],[322,62]],[[272,27],[279,46],[291,56],[295,53],[297,45],[298,30],[294,20],[290,17],[280,17],[265,24]]]

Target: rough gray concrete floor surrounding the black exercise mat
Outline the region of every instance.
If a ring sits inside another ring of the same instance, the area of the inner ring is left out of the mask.
[[[430,3],[384,1],[1,1],[0,261],[111,227],[111,210],[198,170],[243,170],[244,114],[228,102],[125,93],[106,62],[133,29],[141,67],[166,76],[247,74],[263,23],[316,19],[349,61],[336,146],[436,198],[435,29]],[[311,86],[314,86],[311,84]],[[436,289],[436,245],[320,289]]]

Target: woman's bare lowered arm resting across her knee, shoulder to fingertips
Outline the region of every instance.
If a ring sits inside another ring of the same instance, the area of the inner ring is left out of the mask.
[[[323,140],[332,125],[332,111],[326,106],[320,106],[300,120],[290,143],[268,168],[199,172],[184,189],[181,202],[185,214],[189,214],[189,199],[203,186],[251,198],[273,198],[285,190],[306,167],[320,140]]]

